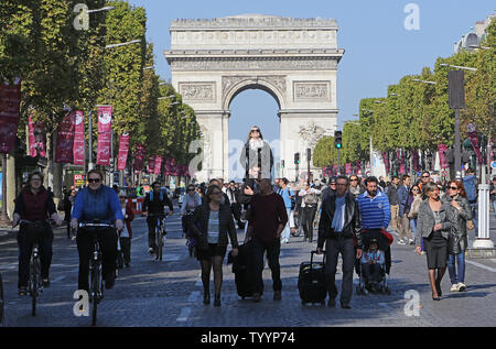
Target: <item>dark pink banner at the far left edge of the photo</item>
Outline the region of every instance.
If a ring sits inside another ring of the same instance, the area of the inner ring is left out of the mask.
[[[15,145],[21,108],[21,81],[0,84],[0,153],[9,154]]]

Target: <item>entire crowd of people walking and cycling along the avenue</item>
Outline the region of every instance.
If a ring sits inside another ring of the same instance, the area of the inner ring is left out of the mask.
[[[325,288],[330,307],[336,304],[338,290],[335,274],[338,255],[343,260],[341,306],[351,307],[354,268],[373,281],[373,290],[380,281],[381,271],[389,274],[390,246],[395,240],[401,246],[416,246],[414,251],[425,254],[428,276],[434,301],[441,299],[441,281],[448,269],[451,292],[463,292],[465,284],[465,250],[468,230],[476,227],[477,190],[472,170],[463,181],[434,183],[429,172],[423,172],[417,183],[409,175],[385,178],[357,175],[331,177],[328,181],[291,183],[288,178],[270,178],[272,155],[263,155],[267,143],[259,128],[254,127],[246,144],[246,178],[242,183],[224,183],[223,178],[208,184],[190,184],[183,196],[180,211],[183,232],[188,246],[200,261],[204,285],[204,304],[211,302],[211,272],[214,273],[214,306],[220,306],[223,261],[227,248],[231,258],[239,252],[238,230],[245,232],[242,244],[250,244],[250,284],[255,302],[263,294],[262,271],[267,259],[272,274],[273,299],[282,297],[279,264],[281,247],[303,232],[303,242],[314,243],[317,228],[316,253],[325,253]],[[258,162],[251,159],[257,156]],[[261,160],[261,161],[260,161]],[[270,171],[263,170],[269,166]],[[65,192],[58,207],[65,212],[67,237],[77,230],[82,221],[114,223],[116,229],[100,233],[103,268],[106,287],[111,288],[117,268],[117,246],[122,251],[122,263],[130,266],[130,250],[134,218],[127,201],[127,193],[103,185],[103,174],[88,173],[89,185],[76,194]],[[29,185],[15,199],[14,225],[25,221],[43,222],[48,217],[61,225],[53,194],[42,186],[40,173],[30,176]],[[493,178],[490,198],[496,206],[496,177]],[[39,204],[42,205],[39,205]],[[145,194],[143,215],[149,230],[149,252],[154,253],[157,217],[174,212],[173,204],[161,184],[155,182]],[[495,207],[496,208],[496,207]],[[237,229],[236,229],[237,228]],[[19,294],[26,293],[26,268],[32,243],[30,235],[41,235],[42,277],[50,285],[53,232],[42,223],[35,228],[21,225],[19,242]],[[89,240],[77,233],[79,253],[79,290],[88,290]],[[325,251],[325,252],[324,252]],[[193,255],[193,254],[192,254]],[[358,265],[358,266],[357,266]],[[384,265],[384,266],[382,266]]]

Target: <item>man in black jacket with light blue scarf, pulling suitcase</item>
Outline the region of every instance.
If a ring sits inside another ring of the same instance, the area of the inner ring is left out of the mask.
[[[356,240],[356,253],[354,247]],[[355,257],[362,257],[362,231],[358,204],[348,193],[348,178],[338,176],[336,179],[336,195],[328,196],[322,203],[322,217],[319,223],[317,253],[323,253],[325,242],[325,282],[328,292],[327,306],[335,307],[337,287],[335,284],[337,258],[343,259],[343,283],[341,292],[341,307],[351,308],[353,294],[353,268]]]

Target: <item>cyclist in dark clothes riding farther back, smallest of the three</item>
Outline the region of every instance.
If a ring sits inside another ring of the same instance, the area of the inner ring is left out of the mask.
[[[164,215],[164,207],[169,206],[169,216],[174,214],[174,207],[168,194],[161,189],[160,182],[152,183],[152,190],[147,193],[143,201],[143,216],[147,216],[148,222],[148,247],[150,254],[155,253],[155,227],[157,216]]]

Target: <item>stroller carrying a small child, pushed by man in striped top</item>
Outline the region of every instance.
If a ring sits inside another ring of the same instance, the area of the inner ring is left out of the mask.
[[[356,287],[358,295],[367,295],[370,292],[391,294],[388,287],[388,277],[391,269],[391,249],[389,241],[380,230],[367,230],[364,233],[364,254],[369,251],[371,244],[376,244],[377,251],[384,255],[384,263],[376,263],[375,265],[380,270],[377,271],[376,275],[370,275],[371,273],[364,271],[362,259],[356,260],[355,270],[359,276],[359,284]]]

